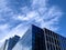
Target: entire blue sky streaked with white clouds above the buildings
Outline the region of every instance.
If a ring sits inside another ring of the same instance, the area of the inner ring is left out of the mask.
[[[0,0],[0,42],[22,37],[31,24],[66,37],[66,0]]]

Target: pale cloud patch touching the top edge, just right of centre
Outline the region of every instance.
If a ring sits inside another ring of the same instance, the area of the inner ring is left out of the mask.
[[[33,0],[32,8],[46,7],[47,0]]]

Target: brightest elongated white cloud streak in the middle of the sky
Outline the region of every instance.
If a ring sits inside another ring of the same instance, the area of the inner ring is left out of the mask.
[[[22,16],[18,16],[18,17],[13,17],[16,20],[22,20],[22,21],[29,21],[31,19],[34,19],[35,17],[37,17],[37,12],[35,11],[30,11],[26,14],[22,14]]]

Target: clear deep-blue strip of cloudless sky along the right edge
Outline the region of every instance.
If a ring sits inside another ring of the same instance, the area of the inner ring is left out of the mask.
[[[58,6],[63,11],[63,16],[59,20],[59,30],[58,33],[66,37],[66,0],[51,0],[48,2],[51,6]]]

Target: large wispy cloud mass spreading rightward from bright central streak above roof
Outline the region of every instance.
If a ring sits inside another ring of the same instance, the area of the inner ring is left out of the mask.
[[[62,17],[62,11],[57,7],[51,8],[37,8],[38,10],[29,11],[26,14],[18,16],[16,20],[36,22],[41,28],[48,28],[56,31],[58,28],[55,27],[58,24],[59,18]],[[30,23],[30,22],[29,22]],[[31,24],[31,23],[30,23]],[[55,29],[53,29],[55,28]]]

